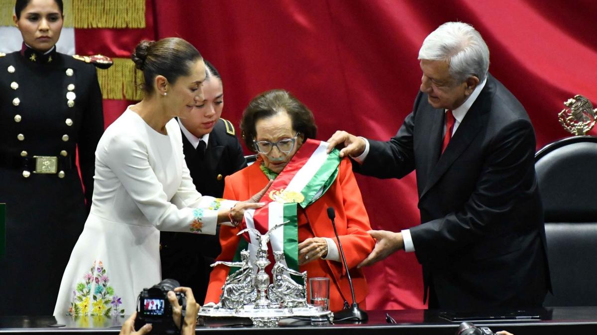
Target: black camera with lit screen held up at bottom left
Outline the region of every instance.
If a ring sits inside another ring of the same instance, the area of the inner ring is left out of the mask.
[[[180,330],[174,324],[172,318],[172,305],[168,300],[168,291],[174,291],[180,283],[173,279],[165,279],[149,289],[143,289],[137,298],[137,318],[135,320],[135,329],[143,327],[145,324],[152,324],[152,333],[156,334],[179,334]],[[186,296],[183,293],[177,293],[176,298],[182,307],[182,316],[186,309]]]

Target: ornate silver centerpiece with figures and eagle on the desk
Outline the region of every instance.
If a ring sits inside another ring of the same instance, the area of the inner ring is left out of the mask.
[[[226,277],[220,302],[215,306],[202,306],[199,317],[244,317],[250,318],[259,327],[275,327],[279,320],[287,317],[333,320],[332,312],[307,304],[307,272],[288,268],[282,251],[273,252],[276,263],[270,284],[270,277],[265,271],[270,264],[267,243],[270,234],[285,223],[275,225],[263,235],[253,228],[238,232],[237,235],[249,232],[259,241],[255,262],[251,262],[249,250],[242,250],[240,262],[213,263],[211,266],[221,264],[239,269]],[[290,275],[301,277],[303,283],[297,283]]]

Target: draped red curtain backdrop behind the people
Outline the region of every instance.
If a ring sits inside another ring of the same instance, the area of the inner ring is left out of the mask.
[[[537,148],[566,137],[562,102],[597,103],[597,3],[593,0],[147,0],[145,30],[77,32],[78,49],[124,57],[141,38],[179,36],[219,69],[223,117],[267,89],[293,92],[315,114],[318,138],[341,129],[388,139],[410,113],[420,85],[417,54],[445,21],[472,24],[491,52],[490,72],[527,108]],[[94,48],[96,44],[108,46]],[[84,46],[86,45],[86,46]],[[119,45],[128,46],[119,48]],[[97,50],[97,51],[96,51]],[[110,53],[110,52],[112,53]],[[118,51],[118,52],[116,52]],[[106,123],[126,102],[104,103]],[[595,134],[595,131],[592,132]],[[358,176],[374,229],[420,222],[414,175]],[[422,308],[421,271],[399,252],[367,269],[370,309]]]

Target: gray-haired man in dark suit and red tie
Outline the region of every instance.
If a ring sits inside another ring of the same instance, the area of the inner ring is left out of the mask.
[[[422,224],[371,231],[376,248],[360,266],[405,249],[423,266],[429,308],[541,306],[550,280],[533,125],[488,73],[489,50],[469,24],[442,24],[418,58],[420,92],[395,137],[329,140],[359,173],[417,174]]]

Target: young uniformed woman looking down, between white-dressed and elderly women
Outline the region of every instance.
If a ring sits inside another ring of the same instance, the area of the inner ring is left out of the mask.
[[[247,166],[235,129],[220,119],[224,92],[220,73],[205,61],[205,100],[195,107],[192,117],[179,119],[183,134],[184,160],[197,191],[204,196],[221,198],[224,177]],[[216,235],[193,235],[161,232],[162,278],[173,278],[181,286],[192,288],[195,299],[202,302],[210,280],[211,263],[220,255]],[[201,253],[197,252],[201,246]]]

